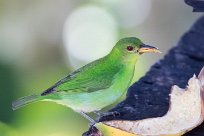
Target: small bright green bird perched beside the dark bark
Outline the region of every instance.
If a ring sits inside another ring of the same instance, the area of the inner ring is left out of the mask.
[[[139,56],[160,51],[135,37],[119,40],[105,57],[95,60],[59,80],[39,95],[20,98],[13,110],[37,101],[53,101],[76,112],[99,111],[117,101],[129,87]]]

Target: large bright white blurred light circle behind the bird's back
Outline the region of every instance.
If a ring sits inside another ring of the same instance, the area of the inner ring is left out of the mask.
[[[68,16],[64,43],[71,65],[78,68],[106,55],[118,36],[118,24],[103,8],[87,5]]]

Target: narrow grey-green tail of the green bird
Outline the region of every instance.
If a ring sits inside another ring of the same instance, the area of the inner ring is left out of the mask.
[[[30,95],[30,96],[22,97],[16,101],[12,102],[12,109],[17,110],[17,109],[19,109],[19,108],[21,108],[27,104],[36,102],[40,99],[41,99],[41,95]]]

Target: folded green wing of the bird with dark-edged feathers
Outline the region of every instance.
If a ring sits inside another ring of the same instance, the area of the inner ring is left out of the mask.
[[[54,92],[94,92],[110,87],[116,75],[119,73],[118,67],[106,67],[92,63],[84,66],[65,78],[58,81],[54,86],[44,91],[41,95]]]

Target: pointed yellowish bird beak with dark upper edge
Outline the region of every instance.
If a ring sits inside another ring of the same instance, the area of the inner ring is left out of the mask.
[[[139,54],[143,54],[143,53],[147,53],[147,52],[162,53],[158,48],[150,46],[150,45],[145,45],[145,44],[142,44],[137,52]]]

